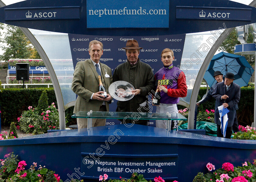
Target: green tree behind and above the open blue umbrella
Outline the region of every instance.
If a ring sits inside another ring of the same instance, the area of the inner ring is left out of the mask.
[[[251,33],[248,35],[247,43],[253,43],[253,36]],[[224,42],[219,47],[219,51],[225,51],[231,54],[234,54],[234,46],[240,44],[240,42],[236,38],[236,30],[233,30],[229,36],[224,40]],[[254,65],[254,55],[243,55],[246,60]]]

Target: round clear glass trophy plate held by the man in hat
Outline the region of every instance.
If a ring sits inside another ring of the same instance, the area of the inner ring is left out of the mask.
[[[109,88],[109,94],[116,100],[126,101],[133,98],[134,93],[132,93],[134,87],[132,84],[125,81],[116,81],[113,82]]]

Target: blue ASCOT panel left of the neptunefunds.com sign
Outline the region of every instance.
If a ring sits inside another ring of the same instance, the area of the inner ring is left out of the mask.
[[[80,7],[6,8],[5,21],[41,19],[79,19]]]

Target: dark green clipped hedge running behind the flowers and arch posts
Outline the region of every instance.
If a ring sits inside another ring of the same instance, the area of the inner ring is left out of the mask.
[[[31,88],[31,89],[2,89],[0,92],[0,108],[2,125],[10,125],[11,122],[17,122],[17,117],[20,117],[23,110],[28,110],[29,106],[36,107],[38,100],[43,92],[46,90],[48,96],[48,105],[55,103],[57,106],[56,96],[53,88]],[[198,93],[198,100],[200,100],[206,93],[206,87],[201,87]],[[199,110],[210,110],[215,107],[215,99],[200,104]],[[239,109],[237,112],[238,123],[246,126],[251,125],[254,119],[254,87],[242,87],[241,97],[238,103]],[[71,119],[73,108],[70,107],[65,111],[66,125],[76,124],[74,119]],[[183,108],[178,106],[178,108]]]

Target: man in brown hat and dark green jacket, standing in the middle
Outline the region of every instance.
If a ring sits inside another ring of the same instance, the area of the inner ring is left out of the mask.
[[[152,107],[148,103],[148,95],[155,88],[155,79],[152,68],[138,58],[140,54],[137,40],[128,40],[126,47],[127,62],[118,65],[113,74],[113,82],[126,81],[134,86],[134,97],[128,101],[118,101],[118,112],[149,112]],[[148,120],[124,120],[124,124],[135,123],[147,125]]]

